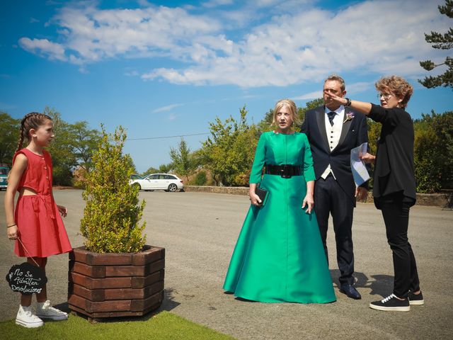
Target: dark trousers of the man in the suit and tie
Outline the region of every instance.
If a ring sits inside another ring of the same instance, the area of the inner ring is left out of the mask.
[[[343,191],[332,175],[318,179],[314,185],[314,210],[319,232],[328,261],[326,244],[328,217],[332,215],[333,230],[337,248],[337,262],[340,269],[340,284],[354,283],[354,252],[352,244],[352,215],[354,203]]]

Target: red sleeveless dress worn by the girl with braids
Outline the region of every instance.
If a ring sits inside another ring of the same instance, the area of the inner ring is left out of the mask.
[[[27,157],[28,166],[23,172],[18,190],[29,188],[33,196],[19,196],[16,204],[16,225],[18,237],[14,252],[18,256],[47,257],[72,250],[64,229],[62,217],[52,196],[52,159],[49,152],[35,154],[24,148],[16,152]]]

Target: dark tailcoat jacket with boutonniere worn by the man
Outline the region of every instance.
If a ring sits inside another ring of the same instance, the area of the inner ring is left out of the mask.
[[[343,121],[346,119],[347,113],[352,113],[354,118],[343,123],[340,140],[332,152],[328,145],[324,106],[305,113],[301,132],[306,134],[310,142],[316,180],[321,177],[330,163],[338,184],[355,204],[355,183],[351,172],[350,151],[352,148],[368,142],[367,120],[365,115],[345,108]],[[365,182],[362,186],[368,188],[368,183]]]

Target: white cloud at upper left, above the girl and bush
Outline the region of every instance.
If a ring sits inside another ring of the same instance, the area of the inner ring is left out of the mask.
[[[151,6],[100,10],[91,2],[85,7],[75,4],[62,8],[52,23],[59,26],[59,40],[63,40],[64,45],[45,42],[66,51],[66,59],[74,64],[90,64],[115,57],[171,56],[191,60],[196,55],[195,40],[213,39],[213,34],[221,28],[218,21],[208,16],[190,15],[182,8]],[[30,47],[30,38],[21,41],[23,48],[30,52],[40,50],[46,54],[49,49],[36,42]]]

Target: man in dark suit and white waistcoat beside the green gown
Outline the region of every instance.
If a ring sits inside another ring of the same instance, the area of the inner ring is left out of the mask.
[[[333,218],[337,261],[340,269],[340,292],[360,299],[354,287],[352,214],[356,198],[367,196],[367,183],[356,188],[350,167],[350,151],[368,142],[365,115],[332,103],[326,94],[345,97],[345,81],[333,74],[324,81],[324,106],[305,113],[301,132],[309,139],[316,181],[314,210],[328,259],[326,238],[329,214]],[[349,103],[349,101],[348,101]]]

